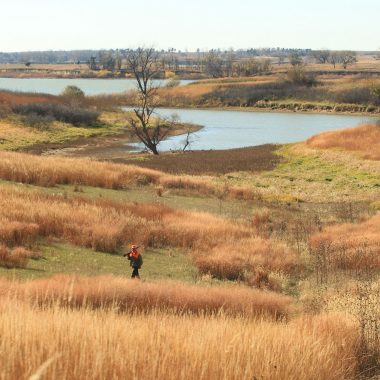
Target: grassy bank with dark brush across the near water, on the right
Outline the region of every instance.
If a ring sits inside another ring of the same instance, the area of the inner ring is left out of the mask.
[[[200,81],[163,88],[163,107],[232,108],[325,113],[379,114],[376,77],[318,77],[313,84],[294,82],[281,74],[234,80]]]

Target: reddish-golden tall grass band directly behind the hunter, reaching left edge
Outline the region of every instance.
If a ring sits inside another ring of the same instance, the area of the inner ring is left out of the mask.
[[[0,241],[28,245],[37,233],[103,252],[124,244],[193,251],[202,273],[246,279],[259,269],[290,273],[300,258],[282,243],[257,237],[254,227],[207,213],[107,199],[69,198],[0,188]]]

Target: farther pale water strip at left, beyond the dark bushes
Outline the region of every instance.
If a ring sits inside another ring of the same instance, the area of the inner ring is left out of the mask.
[[[165,85],[166,80],[154,81]],[[181,84],[189,84],[191,80],[181,80]],[[121,93],[136,88],[134,79],[62,79],[62,78],[0,78],[0,89],[22,92],[41,92],[59,95],[66,86],[77,86],[86,95]]]

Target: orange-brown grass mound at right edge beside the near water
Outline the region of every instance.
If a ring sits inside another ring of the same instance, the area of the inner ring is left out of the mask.
[[[307,140],[312,148],[342,148],[357,151],[364,158],[380,160],[380,126],[365,124],[357,128],[324,132]]]

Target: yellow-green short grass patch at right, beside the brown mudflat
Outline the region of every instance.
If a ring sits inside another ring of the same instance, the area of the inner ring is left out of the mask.
[[[258,174],[241,172],[220,177],[230,185],[257,190],[270,202],[355,201],[378,197],[380,173],[351,165],[349,157],[334,161],[321,154],[298,154],[293,145],[276,151],[283,158],[273,170]]]

